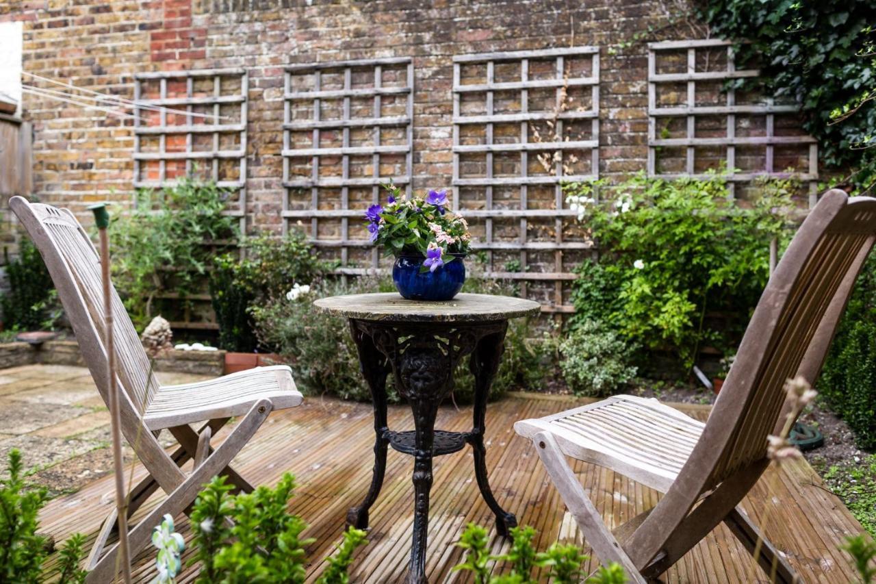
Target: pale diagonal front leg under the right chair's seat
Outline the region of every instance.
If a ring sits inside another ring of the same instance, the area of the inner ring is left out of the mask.
[[[590,497],[569,468],[554,437],[548,432],[539,432],[533,436],[533,444],[535,452],[539,453],[541,462],[548,470],[551,481],[560,492],[562,501],[566,503],[569,513],[575,517],[578,527],[583,532],[584,540],[593,549],[597,558],[603,563],[618,562],[625,569],[630,581],[645,584],[646,580],[639,573],[639,568],[632,563],[632,559],[626,555],[624,548],[611,534],[596,506],[590,501]]]

